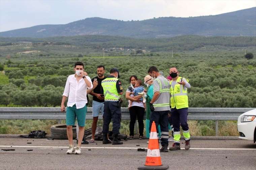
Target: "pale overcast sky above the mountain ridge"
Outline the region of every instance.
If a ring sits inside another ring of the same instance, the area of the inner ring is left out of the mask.
[[[216,15],[256,6],[256,0],[0,0],[0,32],[88,17],[144,20]]]

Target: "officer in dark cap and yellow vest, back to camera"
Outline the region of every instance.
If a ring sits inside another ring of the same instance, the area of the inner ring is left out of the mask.
[[[107,139],[109,130],[109,123],[113,119],[113,141],[112,145],[122,145],[123,142],[119,141],[117,136],[121,125],[121,97],[123,88],[117,68],[110,70],[109,76],[101,81],[101,86],[104,94],[104,118],[103,118],[103,144],[110,144],[111,141]]]

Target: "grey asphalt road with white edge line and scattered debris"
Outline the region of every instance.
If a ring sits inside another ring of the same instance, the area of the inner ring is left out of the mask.
[[[81,155],[67,155],[67,140],[0,137],[0,150],[15,149],[0,151],[0,169],[137,169],[145,164],[147,155],[138,152],[137,148],[147,148],[146,141],[128,140],[118,146],[96,141],[83,145]],[[256,170],[256,144],[252,141],[193,139],[189,151],[184,150],[184,145],[181,144],[183,149],[180,151],[161,153],[162,163],[175,170]]]

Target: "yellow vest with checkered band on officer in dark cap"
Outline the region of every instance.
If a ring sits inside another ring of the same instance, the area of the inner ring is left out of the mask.
[[[117,102],[120,98],[120,95],[117,92],[118,79],[115,77],[105,78],[101,81],[101,86],[104,91],[104,101],[105,102]]]

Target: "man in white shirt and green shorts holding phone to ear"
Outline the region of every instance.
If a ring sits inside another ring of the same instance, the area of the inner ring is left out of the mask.
[[[67,154],[81,154],[81,142],[84,137],[84,126],[86,116],[87,89],[92,89],[91,78],[84,72],[84,64],[76,62],[74,66],[75,74],[69,75],[67,78],[64,93],[62,95],[61,111],[65,111],[65,101],[68,97],[66,125],[69,148]],[[75,124],[75,118],[79,126],[78,146],[73,146],[73,131],[72,126]]]

